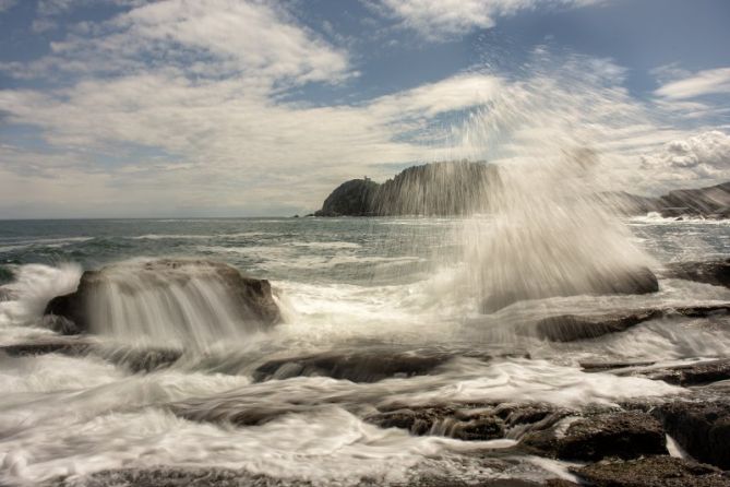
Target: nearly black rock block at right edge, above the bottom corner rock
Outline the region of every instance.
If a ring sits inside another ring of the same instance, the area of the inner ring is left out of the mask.
[[[692,458],[730,470],[730,402],[674,401],[654,415]]]

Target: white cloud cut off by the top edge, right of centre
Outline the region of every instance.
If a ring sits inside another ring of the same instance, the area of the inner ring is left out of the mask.
[[[537,8],[582,7],[601,0],[380,0],[386,12],[429,39],[490,28],[501,16]]]

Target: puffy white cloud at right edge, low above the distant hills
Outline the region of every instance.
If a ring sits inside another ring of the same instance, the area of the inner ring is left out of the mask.
[[[710,130],[669,142],[642,157],[642,166],[663,179],[730,178],[730,135]]]

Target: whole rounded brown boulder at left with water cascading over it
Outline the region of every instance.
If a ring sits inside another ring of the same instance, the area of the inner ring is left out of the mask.
[[[280,320],[268,281],[218,262],[171,259],[86,271],[77,289],[51,299],[45,313],[64,334],[165,346],[243,337]]]

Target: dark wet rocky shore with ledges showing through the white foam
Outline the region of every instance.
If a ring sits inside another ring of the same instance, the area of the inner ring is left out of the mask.
[[[151,263],[148,270],[170,272],[187,262]],[[195,265],[203,265],[196,262]],[[223,264],[205,263],[210,271],[241,299],[241,312],[273,323],[278,308],[266,282],[243,277]],[[728,287],[730,260],[679,263],[669,265],[665,276],[693,280]],[[99,285],[104,270],[87,272],[79,289],[55,298],[47,306],[45,323],[58,326],[58,335],[33,343],[3,346],[8,356],[65,354],[95,355],[123,365],[130,370],[148,373],[171,367],[182,351],[154,348],[105,348],[93,335],[84,313],[85,299]],[[263,284],[265,283],[265,285]],[[660,319],[713,320],[713,326],[730,326],[730,302],[657,307],[603,314],[564,314],[525,323],[517,333],[537,336],[546,342],[571,343],[598,336],[625,333],[642,323]],[[265,383],[297,377],[327,377],[354,383],[386,383],[392,378],[411,378],[441,373],[453,360],[464,358],[490,363],[510,358],[529,359],[525,352],[501,354],[465,348],[408,349],[402,346],[335,349],[308,355],[287,355],[255,363],[249,372],[254,381]],[[570,486],[605,487],[730,486],[730,357],[713,357],[692,364],[666,366],[653,361],[585,361],[584,372],[619,377],[642,377],[681,387],[678,394],[634,399],[613,404],[558,406],[542,401],[460,402],[443,397],[436,402],[397,403],[383,401],[382,394],[359,396],[333,394],[309,402],[279,402],[262,405],[236,394],[188,399],[160,405],[176,417],[229,427],[256,427],[289,414],[319,411],[338,405],[379,428],[396,428],[412,436],[435,436],[464,442],[504,441],[495,450],[460,453],[470,462],[483,462],[504,477],[472,482],[442,478],[438,474],[415,474],[403,484],[412,486]],[[555,478],[536,483],[511,478],[515,459],[546,459],[564,462],[565,471]],[[444,460],[445,461],[445,460]],[[448,460],[451,461],[451,460]],[[418,471],[416,471],[418,472]],[[181,468],[156,466],[98,472],[88,476],[59,477],[47,486],[279,486],[292,485],[286,479],[252,475],[231,468]],[[297,482],[296,485],[307,485]],[[371,486],[362,478],[358,485]]]

